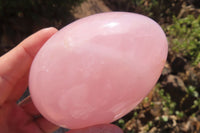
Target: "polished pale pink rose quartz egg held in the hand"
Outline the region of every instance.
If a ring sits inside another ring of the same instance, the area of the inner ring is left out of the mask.
[[[31,97],[45,118],[62,127],[113,122],[153,88],[167,51],[163,30],[148,17],[109,12],[80,19],[36,55]]]

